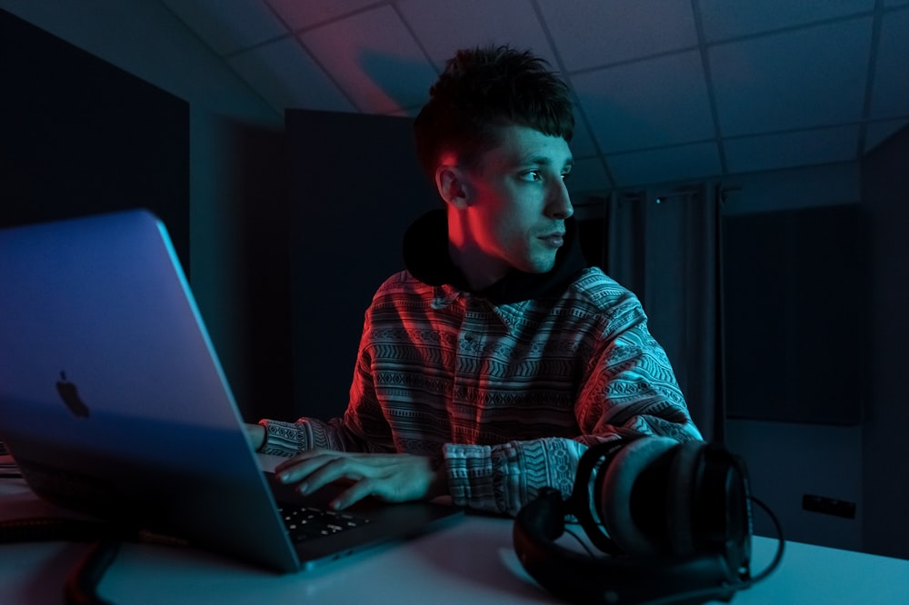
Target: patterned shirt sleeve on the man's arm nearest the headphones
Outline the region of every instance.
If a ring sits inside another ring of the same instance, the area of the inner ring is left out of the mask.
[[[589,445],[641,435],[702,439],[669,359],[639,309],[632,306],[604,330],[574,405],[576,437],[445,446],[455,504],[514,516],[543,487],[568,497]]]

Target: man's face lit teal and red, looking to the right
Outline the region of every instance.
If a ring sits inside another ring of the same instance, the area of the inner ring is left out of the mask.
[[[464,204],[449,239],[455,263],[474,288],[495,283],[512,268],[545,273],[564,244],[564,221],[574,213],[564,177],[572,155],[562,137],[518,125],[500,130],[500,144],[461,174]],[[460,233],[458,233],[460,232]]]

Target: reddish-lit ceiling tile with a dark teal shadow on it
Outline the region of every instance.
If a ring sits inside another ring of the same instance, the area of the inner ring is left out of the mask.
[[[300,35],[357,107],[390,114],[423,104],[436,73],[390,6]]]

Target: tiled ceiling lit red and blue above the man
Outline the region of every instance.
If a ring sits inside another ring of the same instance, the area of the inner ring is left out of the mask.
[[[574,90],[572,188],[850,162],[909,124],[909,0],[161,0],[283,114],[415,115],[458,48]]]

